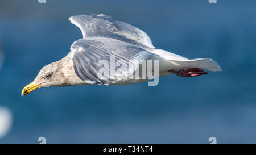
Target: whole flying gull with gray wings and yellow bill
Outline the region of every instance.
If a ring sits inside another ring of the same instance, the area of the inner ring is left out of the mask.
[[[193,77],[207,74],[203,70],[221,70],[210,58],[189,60],[155,49],[145,32],[110,16],[77,15],[69,20],[80,28],[83,38],[71,45],[71,52],[63,59],[44,66],[35,81],[23,89],[22,95],[38,87],[144,82],[158,76],[147,76],[148,72],[156,72],[156,62],[159,76],[174,73]],[[151,67],[148,62],[153,62]],[[146,64],[146,72],[142,71],[143,64]],[[135,74],[137,71],[139,74]],[[146,73],[146,78],[142,73]]]

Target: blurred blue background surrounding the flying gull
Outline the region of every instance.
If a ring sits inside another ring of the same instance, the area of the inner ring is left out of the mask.
[[[0,1],[0,106],[13,126],[0,143],[256,142],[255,1]],[[39,70],[82,33],[69,16],[106,14],[141,28],[156,48],[210,57],[222,72],[121,86],[49,87],[24,97]]]

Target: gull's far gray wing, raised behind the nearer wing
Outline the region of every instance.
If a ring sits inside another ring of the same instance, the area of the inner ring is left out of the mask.
[[[80,28],[83,38],[106,37],[155,48],[145,32],[125,22],[113,20],[110,16],[75,15],[69,20]]]

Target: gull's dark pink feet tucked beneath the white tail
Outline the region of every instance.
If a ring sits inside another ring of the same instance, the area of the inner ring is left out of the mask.
[[[171,69],[171,70],[168,70],[168,72],[176,74],[177,76],[180,76],[180,77],[196,77],[196,76],[201,76],[203,74],[208,74],[207,72],[204,72],[199,68],[190,68],[187,70],[181,69],[179,71]]]

